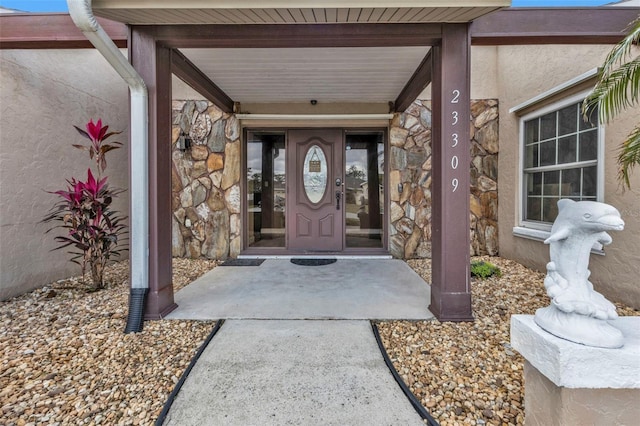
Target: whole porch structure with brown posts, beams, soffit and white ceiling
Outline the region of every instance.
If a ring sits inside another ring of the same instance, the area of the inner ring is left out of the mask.
[[[166,143],[175,75],[228,113],[247,112],[242,103],[308,105],[311,99],[401,112],[431,83],[430,310],[440,320],[473,319],[470,178],[464,167],[470,163],[470,22],[510,1],[388,5],[381,0],[93,2],[96,15],[129,25],[130,62],[149,88],[147,318],[162,318],[176,307]],[[400,190],[388,188],[394,191]]]

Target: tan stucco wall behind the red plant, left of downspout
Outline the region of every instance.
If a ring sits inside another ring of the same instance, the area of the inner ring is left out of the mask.
[[[126,54],[126,52],[125,52]],[[73,125],[93,118],[124,130],[107,157],[111,185],[127,186],[126,84],[94,50],[0,50],[0,299],[78,274],[40,222],[65,179],[91,164]],[[116,208],[128,215],[128,196]],[[126,254],[125,254],[126,255]]]

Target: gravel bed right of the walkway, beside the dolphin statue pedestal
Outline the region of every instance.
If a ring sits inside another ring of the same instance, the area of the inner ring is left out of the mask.
[[[497,257],[501,277],[472,279],[474,322],[378,324],[382,342],[411,391],[442,425],[522,425],[523,358],[509,344],[512,314],[547,306],[545,274]],[[429,260],[407,263],[431,282]],[[640,315],[616,303],[619,315]]]

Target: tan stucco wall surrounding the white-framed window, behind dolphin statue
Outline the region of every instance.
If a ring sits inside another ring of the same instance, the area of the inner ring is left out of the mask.
[[[599,65],[611,46],[501,46],[498,48],[500,99],[499,234],[500,255],[544,271],[549,247],[513,236],[518,225],[520,152],[518,119],[509,109],[571,80]],[[640,117],[640,108],[628,111],[605,128],[604,202],[615,206],[626,222],[612,232],[605,256],[591,256],[591,281],[613,301],[640,308],[640,170],[633,175],[632,191],[622,193],[616,181],[615,151]]]

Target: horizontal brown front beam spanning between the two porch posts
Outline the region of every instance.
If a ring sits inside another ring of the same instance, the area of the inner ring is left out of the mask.
[[[137,26],[138,31],[154,28]],[[431,46],[440,24],[162,25],[157,40],[174,48]]]

